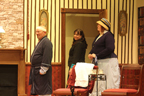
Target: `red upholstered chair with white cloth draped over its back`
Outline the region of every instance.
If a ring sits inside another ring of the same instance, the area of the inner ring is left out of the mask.
[[[97,69],[97,72],[98,72],[97,66],[94,66],[94,69]],[[96,74],[95,74],[95,76],[96,76]],[[71,72],[69,79],[68,79],[68,87],[67,88],[59,88],[59,89],[54,90],[53,95],[54,96],[71,95],[72,92],[71,92],[70,88],[74,86],[75,78],[76,78],[75,66],[73,66],[72,72]],[[75,95],[75,96],[88,96],[88,94],[91,93],[93,90],[94,82],[95,82],[95,80],[90,80],[88,83],[88,87],[86,87],[86,88],[74,87],[73,95]]]

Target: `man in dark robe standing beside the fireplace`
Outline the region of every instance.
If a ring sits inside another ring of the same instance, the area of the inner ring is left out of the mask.
[[[36,35],[39,40],[31,55],[29,84],[31,95],[51,96],[52,94],[52,43],[46,36],[46,28],[38,26]]]

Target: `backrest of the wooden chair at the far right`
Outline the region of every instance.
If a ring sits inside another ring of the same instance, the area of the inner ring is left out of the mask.
[[[121,68],[120,88],[140,89],[143,65],[129,64]]]

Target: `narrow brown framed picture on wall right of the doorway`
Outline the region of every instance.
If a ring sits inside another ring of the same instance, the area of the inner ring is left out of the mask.
[[[120,36],[125,36],[127,33],[127,13],[122,10],[118,16],[118,32]]]

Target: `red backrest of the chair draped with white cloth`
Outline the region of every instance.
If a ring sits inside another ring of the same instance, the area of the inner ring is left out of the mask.
[[[98,68],[97,66],[94,66],[94,69],[97,69],[97,68]],[[73,68],[72,68],[72,72],[71,72],[71,74],[69,75],[69,78],[68,78],[68,82],[67,82],[68,83],[68,88],[74,86],[75,78],[76,78],[76,73],[75,73],[75,65],[74,65]],[[88,87],[86,87],[89,90],[89,93],[91,93],[92,90],[93,90],[94,82],[95,82],[95,80],[90,80],[89,83],[88,83]],[[82,87],[77,87],[77,88],[82,88]]]

